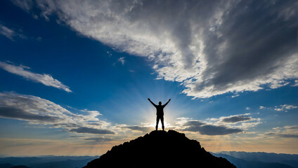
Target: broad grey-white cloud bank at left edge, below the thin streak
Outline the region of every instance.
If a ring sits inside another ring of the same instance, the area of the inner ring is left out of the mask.
[[[49,125],[81,134],[115,134],[108,129],[110,123],[97,118],[100,115],[98,111],[88,110],[84,110],[84,114],[74,114],[32,95],[0,93],[0,117],[26,120],[32,125]]]

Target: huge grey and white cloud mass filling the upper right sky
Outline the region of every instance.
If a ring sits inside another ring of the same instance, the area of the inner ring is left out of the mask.
[[[40,8],[39,15],[46,20],[58,15],[80,34],[148,57],[158,79],[182,83],[183,93],[191,97],[275,89],[298,78],[296,27],[292,26],[297,22],[297,1],[50,0],[16,4],[24,10]],[[248,32],[253,32],[250,38]]]

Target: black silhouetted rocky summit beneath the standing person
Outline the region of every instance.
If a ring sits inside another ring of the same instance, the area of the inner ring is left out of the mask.
[[[92,160],[84,168],[95,167],[233,167],[201,148],[200,143],[174,130],[153,131]]]

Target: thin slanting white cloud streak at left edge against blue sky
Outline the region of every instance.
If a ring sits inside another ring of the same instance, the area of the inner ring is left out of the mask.
[[[42,83],[47,86],[56,87],[60,90],[65,90],[66,92],[72,92],[72,90],[70,90],[70,87],[68,87],[67,85],[63,85],[63,83],[53,78],[51,75],[34,73],[32,71],[29,71],[28,69],[30,68],[27,66],[15,66],[14,64],[8,62],[0,62],[0,68],[37,83]]]

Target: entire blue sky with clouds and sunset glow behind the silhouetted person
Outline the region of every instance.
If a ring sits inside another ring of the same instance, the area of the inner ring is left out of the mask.
[[[298,153],[296,5],[1,1],[0,155],[101,155],[148,97],[207,151]]]

